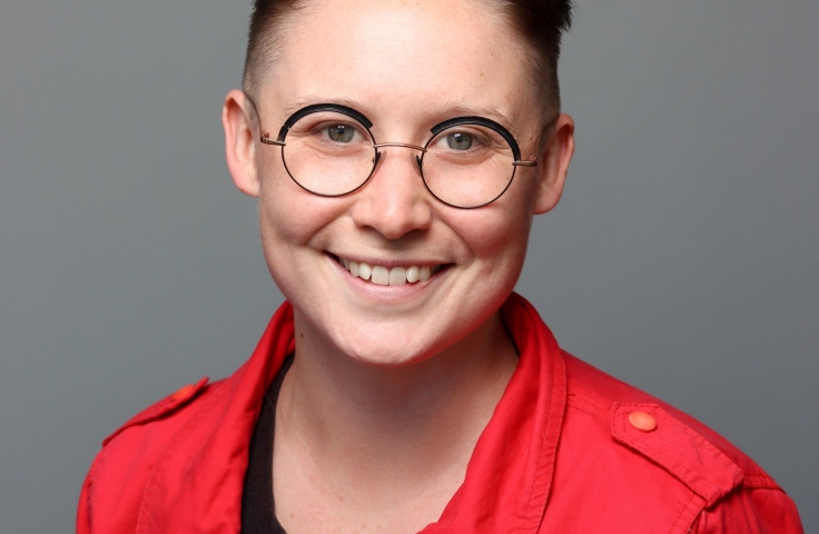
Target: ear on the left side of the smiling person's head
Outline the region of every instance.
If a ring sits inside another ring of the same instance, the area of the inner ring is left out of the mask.
[[[238,89],[228,92],[221,108],[227,168],[236,187],[251,197],[259,196],[255,120],[253,105],[245,93]]]

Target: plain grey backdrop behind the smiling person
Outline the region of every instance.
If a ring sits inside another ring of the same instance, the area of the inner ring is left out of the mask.
[[[249,1],[0,8],[0,532],[72,530],[99,442],[229,374],[282,297],[219,125]],[[520,290],[754,457],[819,532],[819,2],[579,0],[578,154]]]

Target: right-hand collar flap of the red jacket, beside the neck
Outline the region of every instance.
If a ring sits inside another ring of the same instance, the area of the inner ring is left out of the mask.
[[[481,434],[458,492],[423,534],[536,532],[552,487],[566,403],[554,336],[534,307],[512,294],[501,315],[520,353],[517,368]]]

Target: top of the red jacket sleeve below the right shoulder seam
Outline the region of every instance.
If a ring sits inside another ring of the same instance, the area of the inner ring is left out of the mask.
[[[740,486],[703,510],[691,533],[805,534],[805,531],[793,501],[782,490]]]

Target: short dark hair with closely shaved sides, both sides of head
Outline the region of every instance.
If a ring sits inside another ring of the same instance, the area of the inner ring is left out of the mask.
[[[295,13],[317,0],[254,0],[241,86],[258,97],[282,37]],[[474,0],[495,8],[527,44],[530,78],[540,92],[546,115],[560,111],[557,60],[563,33],[572,24],[572,0]]]

